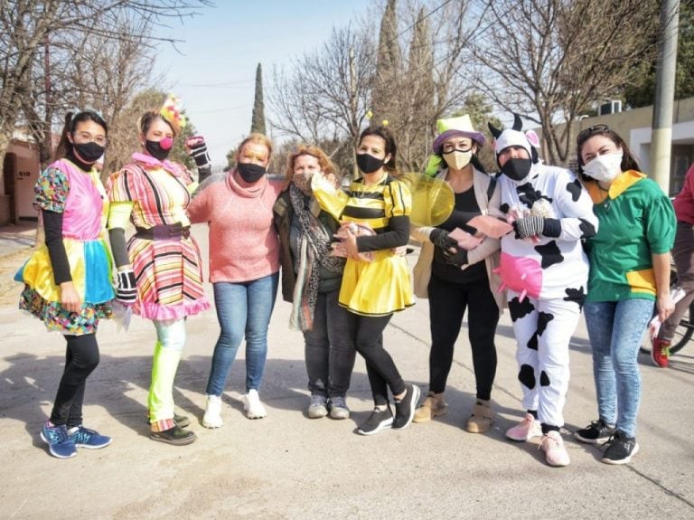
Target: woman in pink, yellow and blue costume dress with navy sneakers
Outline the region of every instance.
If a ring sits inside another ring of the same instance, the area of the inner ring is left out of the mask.
[[[39,175],[34,207],[42,213],[45,244],[14,279],[23,281],[19,307],[65,336],[65,369],[41,438],[59,459],[111,439],[82,426],[85,383],[98,365],[98,321],[111,317],[111,258],[103,240],[108,199],[94,164],[108,127],[92,111],[69,113],[57,161]]]

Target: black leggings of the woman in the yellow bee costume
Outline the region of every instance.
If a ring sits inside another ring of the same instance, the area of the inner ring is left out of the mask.
[[[383,348],[383,330],[392,316],[392,314],[380,317],[354,315],[354,346],[366,360],[371,395],[377,406],[388,404],[388,387],[393,395],[405,392],[405,382],[400,377],[398,367]]]

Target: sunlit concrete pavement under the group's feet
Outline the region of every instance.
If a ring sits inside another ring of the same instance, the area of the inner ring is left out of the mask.
[[[205,246],[205,230],[196,235]],[[206,246],[205,246],[206,247]],[[412,255],[411,255],[412,256]],[[414,261],[414,258],[410,258]],[[19,260],[17,260],[17,266]],[[208,289],[210,289],[208,287]],[[211,291],[210,291],[211,292]],[[570,431],[596,419],[590,346],[583,322],[571,345],[572,380],[564,438],[567,468],[549,468],[537,440],[512,443],[503,432],[521,419],[515,346],[508,313],[498,329],[499,364],[491,431],[461,429],[474,403],[466,329],[461,331],[440,421],[355,433],[370,413],[358,357],[348,404],[352,418],[309,420],[302,336],[288,330],[277,302],[261,399],[266,419],[249,421],[243,349],[224,394],[219,430],[199,423],[211,351],[213,311],[188,321],[176,381],[178,407],[199,436],[187,447],[148,439],[145,402],[154,327],[134,318],[126,333],[101,326],[101,364],[89,378],[85,425],[113,436],[107,449],[53,459],[39,439],[64,362],[64,341],[15,310],[19,285],[0,306],[0,518],[692,518],[694,517],[694,346],[668,370],[642,356],[640,453],[624,467],[600,462],[600,449]],[[396,315],[384,341],[405,379],[427,392],[427,301]]]

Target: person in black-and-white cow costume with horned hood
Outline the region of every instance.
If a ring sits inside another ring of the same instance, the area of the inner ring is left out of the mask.
[[[502,238],[502,288],[516,336],[523,420],[511,440],[542,436],[550,466],[570,462],[559,429],[568,389],[568,343],[586,298],[588,260],[581,241],[596,234],[593,203],[566,169],[539,161],[538,136],[489,125],[501,168],[502,212],[514,232]]]

